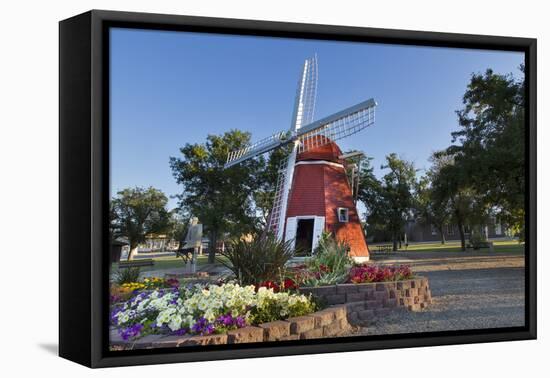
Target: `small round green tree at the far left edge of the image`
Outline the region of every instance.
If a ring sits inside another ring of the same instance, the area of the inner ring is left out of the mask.
[[[111,235],[126,237],[130,244],[128,260],[149,234],[166,232],[169,228],[168,198],[160,190],[127,188],[111,200]]]

